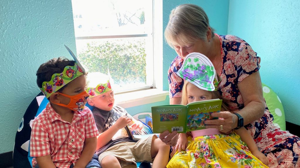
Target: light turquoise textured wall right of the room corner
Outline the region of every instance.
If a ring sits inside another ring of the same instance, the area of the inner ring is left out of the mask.
[[[280,97],[286,121],[300,125],[300,1],[230,0],[228,34],[261,57],[260,76]]]

